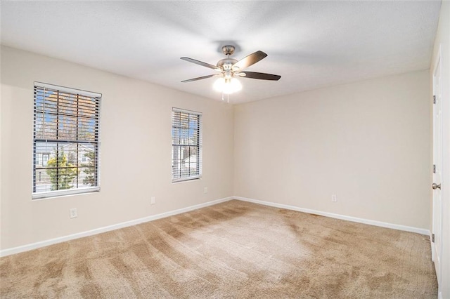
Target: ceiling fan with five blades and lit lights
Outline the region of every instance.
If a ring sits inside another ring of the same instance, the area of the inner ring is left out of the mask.
[[[212,77],[219,77],[219,79],[214,83],[214,89],[221,91],[222,93],[233,93],[239,91],[242,85],[237,80],[237,78],[250,78],[250,79],[262,79],[262,80],[273,80],[277,81],[281,78],[276,74],[266,74],[259,72],[248,72],[245,71],[250,65],[254,65],[259,60],[266,58],[267,54],[262,51],[256,51],[241,60],[236,60],[230,58],[230,55],[234,53],[234,46],[226,45],[222,47],[222,52],[226,55],[226,58],[221,59],[217,62],[217,65],[210,65],[209,63],[195,60],[188,57],[181,57],[182,60],[195,63],[196,65],[202,65],[203,67],[209,67],[219,72],[218,74],[210,74],[203,77],[197,77],[193,79],[184,80],[181,82],[192,82]]]

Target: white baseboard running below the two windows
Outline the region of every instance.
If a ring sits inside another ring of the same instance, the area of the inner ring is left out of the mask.
[[[129,227],[132,225],[138,225],[139,223],[143,223],[143,222],[148,222],[148,221],[152,221],[152,220],[157,220],[160,218],[166,218],[172,215],[177,215],[177,214],[181,214],[181,213],[186,213],[186,212],[190,212],[193,210],[197,210],[198,208],[205,208],[207,206],[213,206],[214,204],[220,204],[221,202],[225,202],[225,201],[229,201],[233,199],[233,197],[225,197],[223,199],[217,199],[214,201],[208,201],[205,202],[203,204],[196,204],[195,206],[188,206],[186,208],[179,208],[178,210],[174,210],[174,211],[169,211],[169,212],[165,212],[165,213],[160,213],[158,215],[151,215],[148,217],[144,217],[144,218],[139,218],[136,220],[130,220],[127,222],[121,222],[121,223],[117,223],[115,225],[108,225],[105,227],[100,227],[100,228],[96,228],[95,230],[89,230],[86,232],[78,232],[76,234],[70,234],[68,236],[64,236],[64,237],[58,237],[55,239],[49,239],[46,241],[39,241],[36,243],[32,243],[32,244],[27,244],[27,245],[23,245],[23,246],[18,246],[18,247],[13,247],[13,248],[8,248],[8,249],[4,249],[0,251],[0,257],[6,256],[6,255],[11,255],[11,254],[15,254],[15,253],[21,253],[24,251],[30,251],[32,249],[37,249],[37,248],[41,248],[41,247],[45,247],[45,246],[49,246],[49,245],[53,245],[53,244],[57,244],[57,243],[61,243],[61,242],[65,242],[65,241],[70,241],[73,239],[79,239],[82,237],[89,237],[92,236],[94,234],[101,234],[102,232],[109,232],[111,230],[118,230],[120,228],[123,227]]]

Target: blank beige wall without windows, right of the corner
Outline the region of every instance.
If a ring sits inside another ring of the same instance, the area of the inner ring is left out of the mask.
[[[234,194],[429,230],[428,76],[236,105]]]

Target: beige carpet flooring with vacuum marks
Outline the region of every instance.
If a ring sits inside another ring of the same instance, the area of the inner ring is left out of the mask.
[[[1,298],[437,298],[428,237],[228,201],[0,259]]]

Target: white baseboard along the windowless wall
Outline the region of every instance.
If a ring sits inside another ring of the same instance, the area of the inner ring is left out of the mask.
[[[270,202],[270,201],[249,199],[246,197],[236,197],[235,196],[235,197],[233,197],[233,199],[238,199],[241,201],[248,201],[248,202],[252,202],[255,204],[263,204],[264,206],[273,206],[275,208],[285,208],[288,210],[299,211],[299,212],[304,212],[304,213],[309,213],[309,214],[314,214],[314,215],[321,215],[321,216],[326,216],[326,217],[330,217],[330,218],[337,218],[337,219],[342,219],[342,220],[347,220],[347,221],[352,221],[352,222],[364,223],[364,224],[368,224],[368,225],[375,225],[375,226],[379,226],[379,227],[387,227],[387,228],[392,228],[394,230],[404,230],[405,232],[416,232],[418,234],[426,234],[427,236],[430,236],[430,230],[425,230],[423,228],[418,228],[418,227],[410,227],[410,226],[406,226],[406,225],[397,225],[397,224],[381,222],[381,221],[376,221],[376,220],[356,218],[356,217],[347,216],[347,215],[340,215],[340,214],[311,210],[309,208],[299,208],[298,206],[289,206],[287,204],[276,204],[276,203]]]

